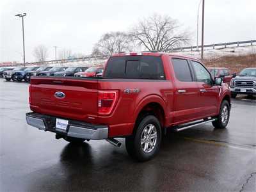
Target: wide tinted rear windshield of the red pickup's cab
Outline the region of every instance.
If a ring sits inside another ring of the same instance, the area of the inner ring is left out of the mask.
[[[163,63],[157,56],[111,57],[104,77],[124,79],[165,79]]]

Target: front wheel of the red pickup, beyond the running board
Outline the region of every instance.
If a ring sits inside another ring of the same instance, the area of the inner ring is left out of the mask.
[[[223,100],[220,106],[220,112],[217,120],[212,122],[212,125],[217,129],[225,129],[228,125],[230,116],[230,105],[227,100]]]

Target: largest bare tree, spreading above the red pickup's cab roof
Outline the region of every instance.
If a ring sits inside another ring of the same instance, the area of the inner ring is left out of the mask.
[[[188,31],[181,31],[177,20],[154,14],[141,20],[131,30],[132,39],[148,51],[166,51],[188,44]]]

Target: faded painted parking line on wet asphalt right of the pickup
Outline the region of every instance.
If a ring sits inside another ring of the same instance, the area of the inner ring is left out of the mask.
[[[187,138],[184,137],[184,140],[194,141],[197,143],[207,143],[211,145],[218,145],[220,147],[232,147],[232,148],[239,148],[239,149],[245,149],[245,150],[256,150],[256,144],[255,145],[243,145],[243,144],[237,144],[237,143],[228,143],[226,141],[214,141],[214,140],[202,140],[202,139],[195,139],[195,138]]]

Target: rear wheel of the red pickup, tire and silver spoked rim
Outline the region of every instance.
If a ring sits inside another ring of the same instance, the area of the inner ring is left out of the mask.
[[[136,132],[125,138],[125,147],[128,154],[138,161],[148,161],[155,157],[159,152],[162,138],[159,120],[153,115],[145,116],[141,118],[134,129],[136,129]],[[148,131],[150,131],[150,134],[148,134]],[[141,144],[141,141],[144,141],[144,143]]]

